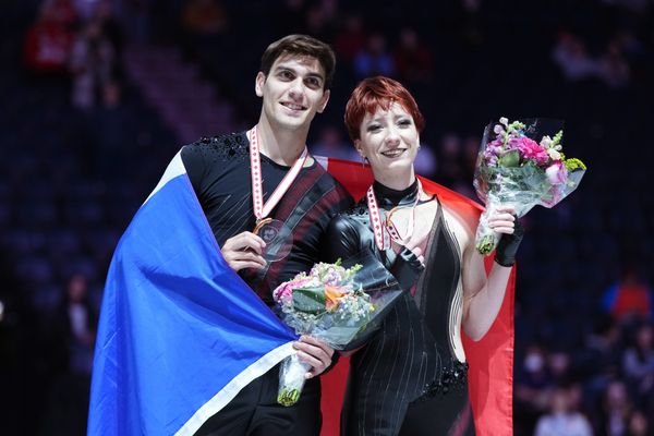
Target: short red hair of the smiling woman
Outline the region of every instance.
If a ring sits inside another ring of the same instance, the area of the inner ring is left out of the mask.
[[[350,138],[356,141],[361,137],[361,122],[366,113],[375,113],[379,108],[388,110],[393,102],[400,104],[413,117],[415,128],[422,132],[425,119],[411,93],[398,81],[377,75],[361,81],[350,95],[344,116]]]

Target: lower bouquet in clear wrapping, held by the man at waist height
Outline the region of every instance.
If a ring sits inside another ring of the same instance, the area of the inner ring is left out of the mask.
[[[372,254],[360,254],[348,264],[319,263],[277,287],[272,299],[280,318],[298,335],[311,335],[337,350],[365,343],[402,290]],[[281,363],[280,404],[298,401],[308,370],[296,354]]]

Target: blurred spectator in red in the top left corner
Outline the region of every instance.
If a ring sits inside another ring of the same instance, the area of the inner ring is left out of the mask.
[[[27,31],[23,56],[34,72],[63,73],[68,69],[74,11],[64,5],[61,1],[44,3],[36,23]]]

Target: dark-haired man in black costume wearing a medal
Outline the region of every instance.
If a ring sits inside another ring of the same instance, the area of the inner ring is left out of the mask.
[[[290,35],[272,43],[255,81],[263,100],[258,123],[247,132],[203,138],[182,149],[222,256],[268,305],[277,284],[319,261],[329,220],[351,204],[344,189],[307,155],[305,146],[313,118],[329,100],[334,66],[331,49],[312,37]],[[270,231],[290,233],[286,257],[280,253],[284,244],[267,246],[262,239]],[[302,337],[294,347],[312,366],[294,405],[277,404],[279,366],[275,366],[196,434],[317,435],[322,420],[316,376],[329,366],[334,350],[311,337]]]

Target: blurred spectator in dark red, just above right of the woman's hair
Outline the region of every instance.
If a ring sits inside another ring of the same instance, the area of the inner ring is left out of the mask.
[[[413,28],[403,28],[395,52],[398,75],[408,83],[429,83],[434,74],[432,53]]]

